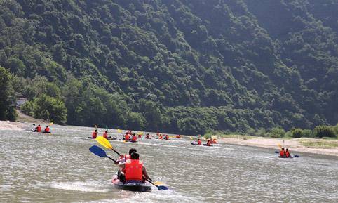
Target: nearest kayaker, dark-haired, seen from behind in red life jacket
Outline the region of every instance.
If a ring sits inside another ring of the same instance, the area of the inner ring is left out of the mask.
[[[127,159],[123,164],[119,164],[119,167],[121,170],[120,181],[124,179],[124,183],[144,183],[145,180],[149,179],[147,170],[137,152],[133,152],[130,159]]]

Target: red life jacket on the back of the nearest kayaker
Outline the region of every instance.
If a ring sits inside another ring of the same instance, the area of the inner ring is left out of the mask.
[[[124,175],[126,181],[142,181],[143,163],[140,160],[128,159],[124,165]]]

